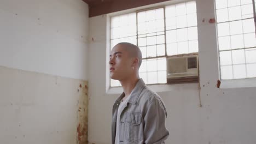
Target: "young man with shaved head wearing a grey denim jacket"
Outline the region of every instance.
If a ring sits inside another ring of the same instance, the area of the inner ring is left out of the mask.
[[[165,143],[169,135],[165,104],[139,79],[141,63],[136,45],[119,43],[110,52],[110,78],[119,80],[124,90],[113,105],[112,144]]]

